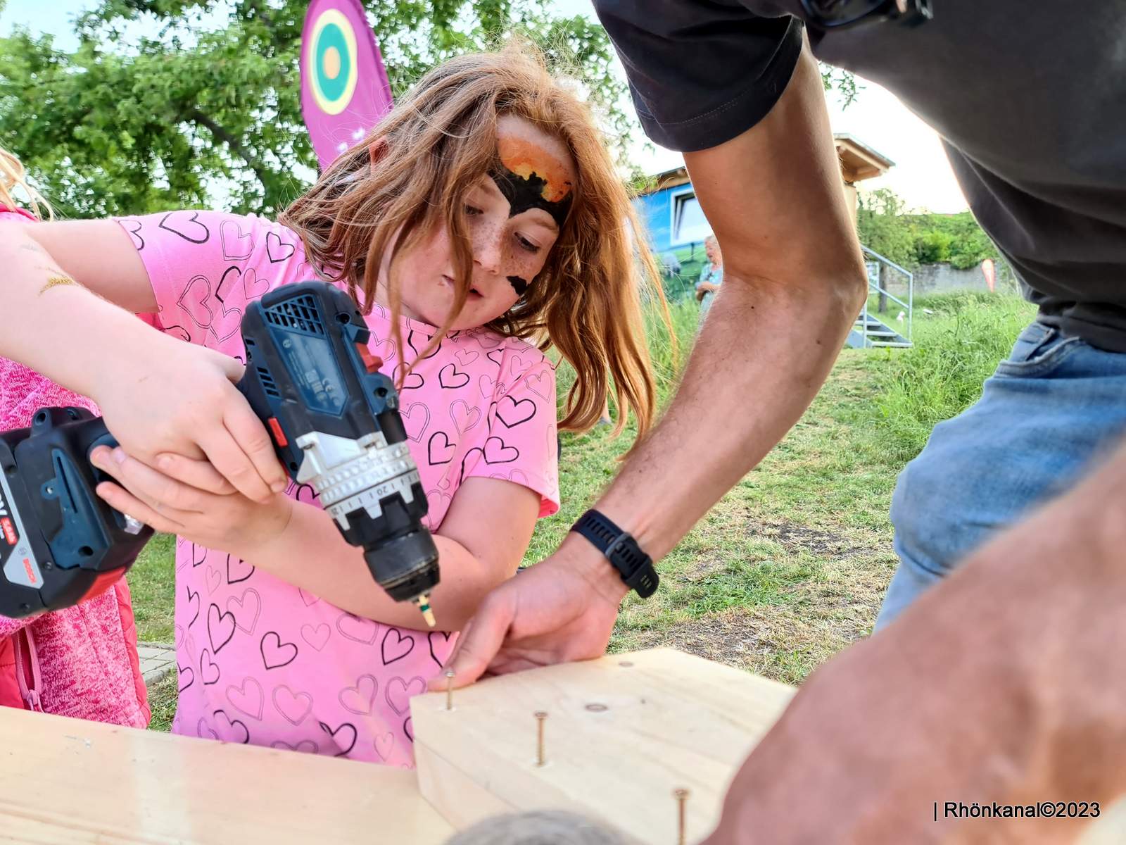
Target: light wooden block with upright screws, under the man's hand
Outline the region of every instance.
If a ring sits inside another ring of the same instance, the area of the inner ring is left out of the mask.
[[[631,842],[674,845],[687,788],[688,839],[709,833],[739,764],[793,690],[672,649],[483,681],[411,700],[422,794],[455,827],[498,812],[569,809]],[[536,719],[546,765],[536,765]],[[624,808],[635,808],[624,811]]]

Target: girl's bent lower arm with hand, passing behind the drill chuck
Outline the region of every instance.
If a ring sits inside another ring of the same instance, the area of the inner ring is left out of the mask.
[[[180,483],[118,451],[93,453],[95,463],[122,486],[102,483],[98,495],[118,510],[132,514],[157,531],[222,549],[271,575],[301,587],[358,616],[392,625],[420,628],[411,604],[395,602],[372,578],[360,549],[349,545],[324,510],[275,496],[259,505],[243,496],[214,496],[205,462],[182,462]],[[489,590],[509,578],[531,540],[539,513],[539,495],[521,484],[472,477],[454,500],[435,535],[441,582],[431,594],[438,628],[457,631],[476,611]],[[160,506],[159,510],[154,505]]]

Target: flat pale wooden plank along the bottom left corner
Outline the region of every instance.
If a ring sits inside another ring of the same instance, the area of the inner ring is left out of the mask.
[[[412,772],[0,708],[0,840],[439,845]]]

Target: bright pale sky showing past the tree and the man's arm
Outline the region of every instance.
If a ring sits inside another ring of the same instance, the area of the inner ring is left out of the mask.
[[[388,0],[390,1],[390,0]],[[0,35],[12,26],[23,25],[32,32],[50,32],[56,45],[66,50],[75,45],[73,20],[96,0],[8,0],[0,11]],[[593,18],[590,0],[548,0],[560,15],[586,15]],[[620,66],[618,73],[623,74]],[[833,132],[847,132],[865,145],[895,162],[885,176],[868,179],[860,189],[891,188],[909,210],[940,213],[964,211],[966,201],[954,179],[938,135],[914,116],[894,95],[884,88],[857,80],[861,88],[857,99],[841,108],[839,98],[828,97],[829,118]],[[638,127],[632,157],[645,172],[656,174],[683,163],[679,153],[646,145]]]

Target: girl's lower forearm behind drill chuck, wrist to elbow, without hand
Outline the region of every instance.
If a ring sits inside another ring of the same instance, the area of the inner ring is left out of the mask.
[[[500,579],[461,543],[437,534],[434,540],[441,581],[430,603],[438,629],[457,631]],[[295,504],[285,531],[265,545],[238,553],[248,563],[357,616],[404,628],[423,624],[414,605],[395,602],[375,582],[363,550],[349,545],[332,517],[313,505]]]

